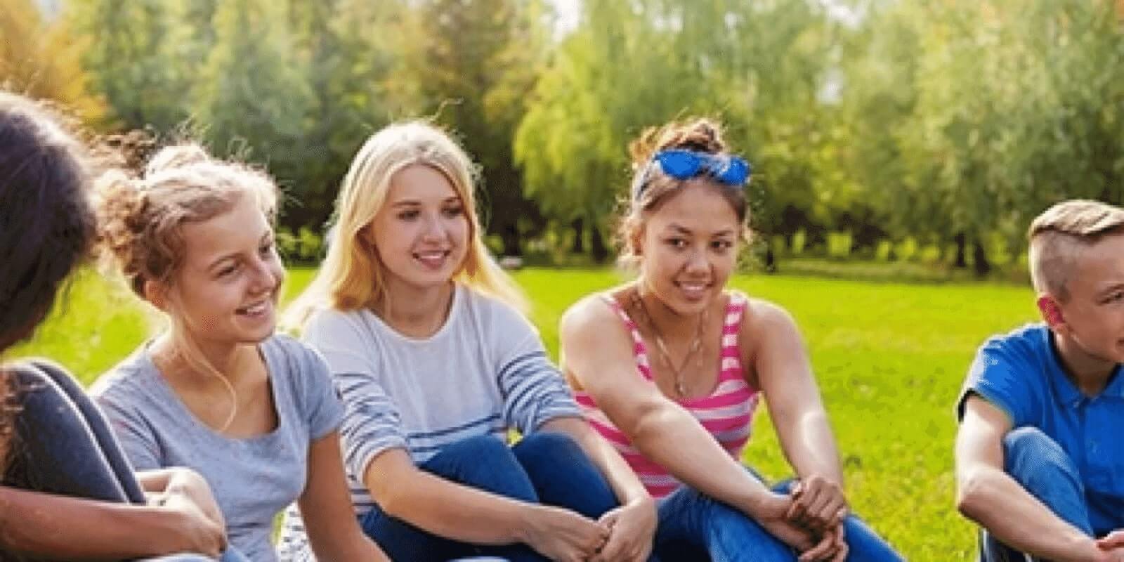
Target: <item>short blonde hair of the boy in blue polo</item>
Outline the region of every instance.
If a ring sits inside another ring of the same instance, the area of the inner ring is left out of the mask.
[[[1027,230],[1031,281],[1039,293],[1069,299],[1067,283],[1082,250],[1124,232],[1124,209],[1100,201],[1062,201],[1039,215]]]

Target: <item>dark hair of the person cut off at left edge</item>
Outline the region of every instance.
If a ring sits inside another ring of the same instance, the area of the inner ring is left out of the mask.
[[[87,151],[72,130],[43,103],[0,92],[0,354],[31,335],[94,238]],[[0,369],[0,454],[15,410],[8,379]]]

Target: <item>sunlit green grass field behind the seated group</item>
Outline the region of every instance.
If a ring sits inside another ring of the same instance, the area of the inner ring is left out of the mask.
[[[292,271],[287,298],[310,273]],[[622,281],[604,270],[535,269],[517,279],[555,356],[562,311]],[[968,560],[973,531],[953,508],[952,405],[980,342],[1035,318],[1030,290],[764,275],[733,285],[782,305],[804,330],[854,510],[912,560]],[[53,357],[89,383],[157,319],[124,289],[85,272],[35,339],[9,355]],[[788,475],[767,414],[754,422],[745,461],[770,478]]]

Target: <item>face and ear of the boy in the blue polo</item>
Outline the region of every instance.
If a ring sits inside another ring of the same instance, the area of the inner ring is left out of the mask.
[[[1109,370],[1124,363],[1124,234],[1075,250],[1068,298],[1043,296],[1039,307],[1072,369]]]

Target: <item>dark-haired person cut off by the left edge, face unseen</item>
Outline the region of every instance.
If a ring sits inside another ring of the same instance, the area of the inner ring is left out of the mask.
[[[94,236],[84,152],[60,123],[0,92],[0,354],[30,336]],[[62,368],[0,365],[0,558],[217,556],[224,549],[206,482],[183,469],[134,474]]]

